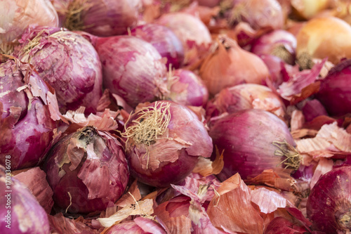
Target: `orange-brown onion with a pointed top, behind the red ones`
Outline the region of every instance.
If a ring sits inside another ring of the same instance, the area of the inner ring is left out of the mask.
[[[270,71],[263,60],[240,48],[237,41],[220,36],[216,51],[201,65],[200,77],[204,79],[209,93],[214,95],[237,84],[265,84]]]

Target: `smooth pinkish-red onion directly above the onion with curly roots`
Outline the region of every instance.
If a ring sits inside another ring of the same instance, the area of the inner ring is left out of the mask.
[[[105,88],[129,105],[162,98],[167,92],[166,66],[152,44],[131,36],[100,37],[95,48]]]

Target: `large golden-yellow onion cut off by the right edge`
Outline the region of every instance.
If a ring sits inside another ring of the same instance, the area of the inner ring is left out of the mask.
[[[307,53],[312,58],[328,57],[337,64],[342,58],[351,58],[351,26],[335,17],[308,20],[296,35],[296,55]]]

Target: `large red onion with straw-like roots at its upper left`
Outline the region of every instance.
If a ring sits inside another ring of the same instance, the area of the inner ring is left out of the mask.
[[[28,28],[15,49],[55,89],[60,111],[86,107],[96,112],[102,96],[101,63],[93,46],[79,34],[58,27]]]

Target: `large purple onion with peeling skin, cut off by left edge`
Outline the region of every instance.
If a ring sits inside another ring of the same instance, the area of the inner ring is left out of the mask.
[[[0,61],[0,164],[10,155],[11,169],[34,167],[44,160],[60,119],[57,100],[33,67],[12,56]]]

